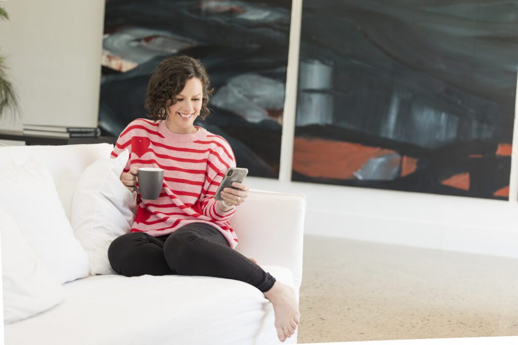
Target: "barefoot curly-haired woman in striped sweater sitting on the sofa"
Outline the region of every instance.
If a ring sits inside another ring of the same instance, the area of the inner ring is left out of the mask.
[[[108,258],[125,276],[201,275],[252,284],[274,306],[277,335],[285,341],[300,318],[293,289],[234,250],[238,238],[229,219],[248,187],[234,183],[222,192],[223,201],[214,199],[236,161],[222,137],[193,124],[209,114],[211,93],[204,67],[188,56],[166,58],[152,74],[144,103],[151,121],[130,123],[112,156],[130,151],[121,181],[131,190],[141,167],[164,169],[164,187],[157,200],[138,198],[131,232],[112,242]]]

